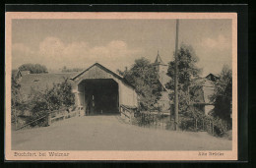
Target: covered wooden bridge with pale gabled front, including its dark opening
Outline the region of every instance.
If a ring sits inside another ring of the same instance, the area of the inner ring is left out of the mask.
[[[76,105],[84,115],[119,113],[121,106],[135,108],[138,95],[133,85],[96,63],[71,78]]]

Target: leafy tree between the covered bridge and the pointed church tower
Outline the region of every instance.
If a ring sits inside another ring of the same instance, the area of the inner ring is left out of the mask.
[[[135,86],[140,95],[140,106],[142,110],[154,109],[154,104],[160,98],[160,82],[158,72],[151,62],[146,58],[135,60],[132,68],[124,72],[118,70],[124,79]]]

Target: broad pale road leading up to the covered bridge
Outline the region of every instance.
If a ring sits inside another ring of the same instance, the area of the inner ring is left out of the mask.
[[[12,132],[15,150],[229,150],[231,140],[207,133],[141,128],[119,116],[83,116]]]

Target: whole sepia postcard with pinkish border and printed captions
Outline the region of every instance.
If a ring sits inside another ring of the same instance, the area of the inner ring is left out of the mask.
[[[6,159],[236,160],[234,13],[7,13]]]

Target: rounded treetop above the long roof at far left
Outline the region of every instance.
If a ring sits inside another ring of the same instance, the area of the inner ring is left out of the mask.
[[[47,68],[40,64],[23,64],[19,67],[20,71],[30,71],[31,74],[47,73]]]

